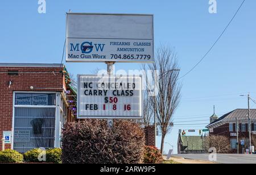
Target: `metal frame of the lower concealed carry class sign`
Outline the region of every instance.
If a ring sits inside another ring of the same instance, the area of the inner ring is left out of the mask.
[[[140,77],[141,78],[141,94],[140,94],[140,116],[84,116],[80,115],[80,77],[82,76],[88,76],[88,77]],[[143,90],[142,90],[142,76],[138,75],[105,75],[105,76],[99,76],[96,74],[77,74],[77,119],[143,119]]]

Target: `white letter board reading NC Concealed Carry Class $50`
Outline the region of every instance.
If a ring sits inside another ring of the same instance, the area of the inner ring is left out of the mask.
[[[77,118],[142,119],[141,76],[78,75]]]

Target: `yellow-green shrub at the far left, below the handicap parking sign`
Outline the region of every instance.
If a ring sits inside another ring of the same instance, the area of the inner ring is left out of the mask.
[[[0,163],[22,163],[23,156],[18,151],[6,149],[0,152]]]

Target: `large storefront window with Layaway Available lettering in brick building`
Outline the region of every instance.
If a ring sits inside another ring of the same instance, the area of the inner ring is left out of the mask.
[[[15,94],[14,149],[53,148],[56,94]]]

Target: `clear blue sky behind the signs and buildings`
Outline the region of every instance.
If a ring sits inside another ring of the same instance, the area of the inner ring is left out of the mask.
[[[37,0],[1,1],[0,62],[60,63],[65,40],[65,12],[69,9],[72,12],[145,13],[154,14],[156,47],[160,43],[175,47],[182,75],[210,48],[242,0],[217,0],[217,14],[208,12],[208,0],[46,2],[46,14],[39,14]],[[250,91],[256,98],[255,7],[255,0],[247,0],[212,52],[183,78],[182,100],[174,122],[208,120],[213,105],[216,105],[217,114],[246,108],[246,98],[239,97],[241,93]],[[105,69],[103,63],[65,65],[72,74]],[[140,66],[116,64],[116,69],[139,69]],[[187,123],[209,122],[176,124]],[[175,126],[166,142],[175,145],[176,150],[179,128],[199,129],[204,126]],[[165,151],[169,148],[166,144]]]

